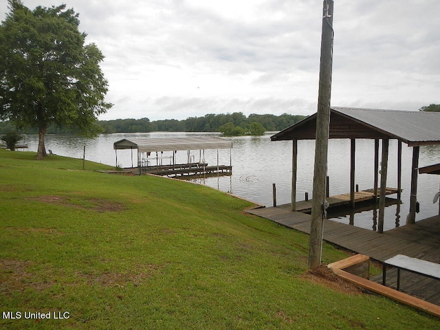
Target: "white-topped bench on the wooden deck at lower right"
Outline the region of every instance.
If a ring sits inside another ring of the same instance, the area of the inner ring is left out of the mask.
[[[386,285],[386,266],[397,268],[397,291],[400,288],[400,270],[407,270],[408,272],[440,280],[440,265],[438,263],[397,254],[397,256],[384,261],[382,272],[383,285]]]

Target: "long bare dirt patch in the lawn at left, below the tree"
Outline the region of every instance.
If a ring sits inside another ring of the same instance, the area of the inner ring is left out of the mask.
[[[67,197],[59,195],[46,195],[30,198],[33,201],[41,201],[55,205],[67,206],[70,208],[80,208],[83,210],[95,210],[98,212],[118,212],[125,210],[122,203],[115,203],[107,199],[87,198],[87,197]]]

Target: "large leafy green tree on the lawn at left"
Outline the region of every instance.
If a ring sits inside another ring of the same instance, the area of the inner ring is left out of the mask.
[[[85,44],[73,9],[30,10],[20,0],[8,2],[10,12],[0,25],[0,119],[38,128],[42,159],[49,124],[99,133],[98,115],[112,105],[104,101],[104,56],[94,43]]]

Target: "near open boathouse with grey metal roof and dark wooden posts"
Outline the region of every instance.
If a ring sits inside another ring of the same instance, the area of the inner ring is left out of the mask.
[[[298,140],[315,140],[317,113],[272,135],[272,141],[292,140],[292,210],[296,210],[296,171]],[[397,143],[397,194],[401,192],[401,146],[402,142],[412,147],[412,173],[410,192],[410,212],[406,223],[415,223],[417,203],[417,174],[419,167],[419,147],[440,144],[440,113],[424,111],[399,111],[383,109],[360,109],[331,107],[329,138],[351,140],[350,200],[355,203],[355,140],[375,140],[375,177],[373,193],[380,197],[378,231],[383,232],[386,174],[388,170],[389,140]],[[379,145],[382,140],[382,167],[379,184]],[[373,158],[373,157],[372,157]],[[380,190],[379,188],[380,187]]]

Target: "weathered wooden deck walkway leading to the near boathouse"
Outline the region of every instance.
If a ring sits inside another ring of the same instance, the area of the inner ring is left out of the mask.
[[[247,212],[310,233],[311,216],[303,212],[292,212],[289,206],[256,208]],[[440,263],[439,238],[440,216],[417,221],[415,225],[403,225],[384,234],[332,220],[325,220],[324,223],[325,241],[381,262],[396,254],[405,254]],[[395,287],[395,270],[388,270],[386,274],[388,285]],[[372,281],[381,283],[382,275],[372,278]],[[401,271],[401,291],[440,305],[440,281]]]

